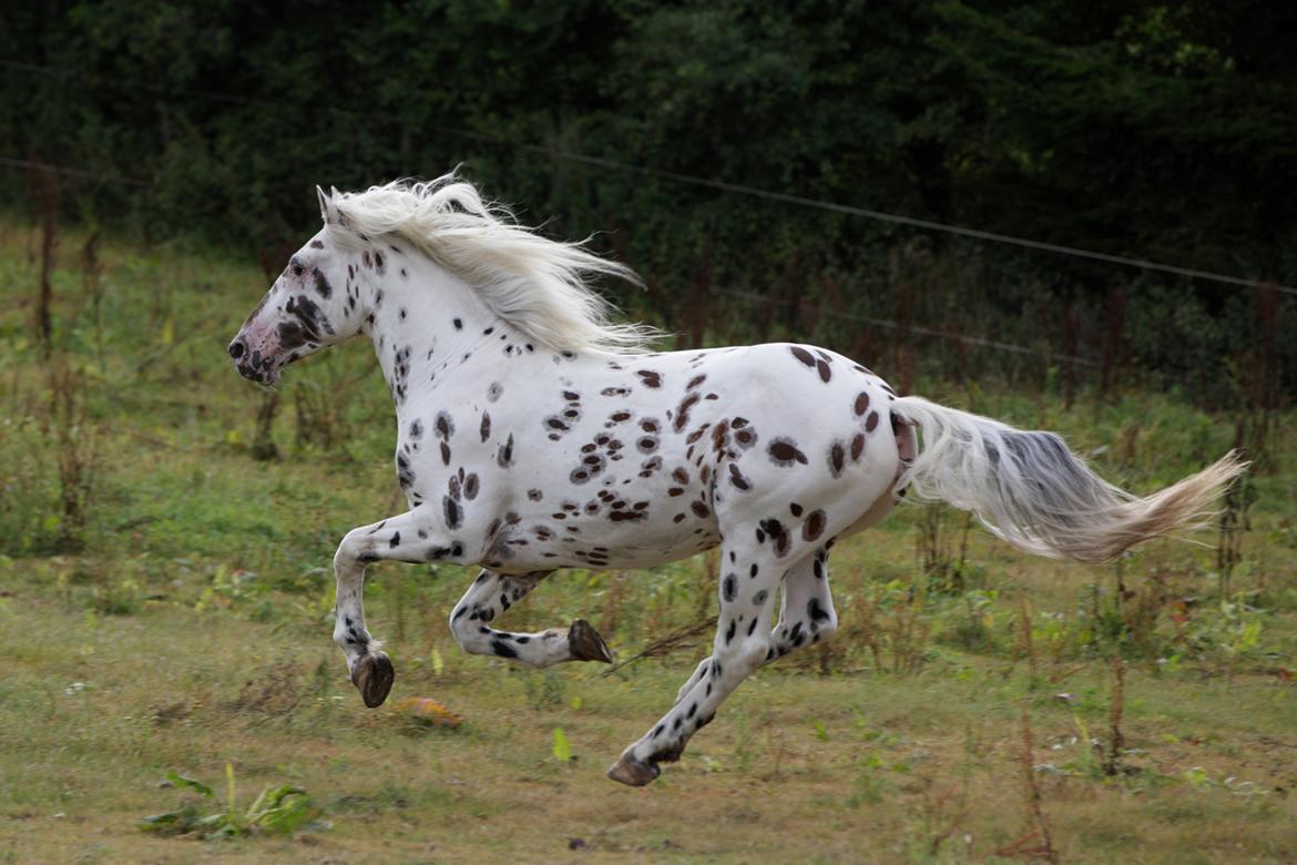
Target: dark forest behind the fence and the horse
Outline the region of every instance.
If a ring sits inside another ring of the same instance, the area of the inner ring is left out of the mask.
[[[278,271],[314,184],[462,163],[554,236],[602,232],[650,287],[608,290],[681,345],[1274,407],[1297,386],[1274,287],[1297,284],[1294,36],[1297,4],[1265,0],[10,4],[0,191],[39,210],[30,163],[58,166],[67,219]]]

